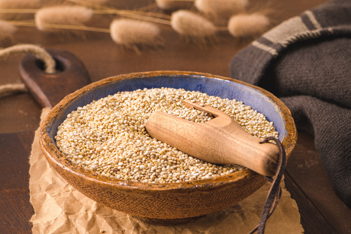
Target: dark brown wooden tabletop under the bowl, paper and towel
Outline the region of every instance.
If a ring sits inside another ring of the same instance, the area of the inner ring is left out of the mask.
[[[120,7],[143,6],[150,1],[119,1]],[[325,0],[251,1],[252,6],[274,11],[278,24]],[[110,4],[112,4],[110,2]],[[264,7],[263,7],[264,5]],[[232,56],[250,43],[229,34],[219,36],[215,46],[187,44],[167,27],[163,27],[165,46],[137,54],[114,44],[109,35],[86,34],[84,39],[44,34],[35,28],[21,27],[14,43],[39,44],[72,52],[84,63],[91,80],[143,71],[178,70],[208,72],[229,76]],[[18,65],[24,55],[11,56],[0,64],[0,85],[19,83]],[[29,219],[33,207],[29,203],[28,156],[34,131],[39,126],[41,108],[28,94],[0,99],[0,233],[31,233]],[[314,149],[313,137],[299,132],[296,147],[287,163],[285,183],[296,200],[305,233],[350,233],[351,209],[335,194],[320,157]]]

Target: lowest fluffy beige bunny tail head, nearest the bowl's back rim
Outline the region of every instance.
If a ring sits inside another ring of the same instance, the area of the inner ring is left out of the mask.
[[[160,29],[150,22],[117,19],[110,25],[111,38],[117,44],[139,51],[138,47],[157,47],[163,44]]]

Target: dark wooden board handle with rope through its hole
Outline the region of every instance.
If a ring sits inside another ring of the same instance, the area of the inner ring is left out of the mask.
[[[41,61],[34,55],[22,59],[19,70],[21,79],[41,107],[52,108],[66,95],[88,84],[90,78],[83,63],[72,53],[61,49],[48,49],[56,62],[56,71],[46,73]]]

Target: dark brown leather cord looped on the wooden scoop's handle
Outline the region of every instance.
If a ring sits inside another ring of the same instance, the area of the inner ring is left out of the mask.
[[[283,173],[285,170],[286,154],[284,147],[280,141],[273,137],[268,136],[260,143],[267,143],[268,141],[274,141],[279,148],[279,162],[277,172],[274,175],[274,179],[269,176],[264,176],[265,179],[272,183],[269,190],[266,202],[264,204],[260,221],[256,227],[254,227],[249,234],[253,234],[257,230],[257,234],[263,234],[266,226],[267,219],[271,216],[274,209],[276,209],[280,196],[282,195],[282,188],[280,188],[280,181],[282,180]]]

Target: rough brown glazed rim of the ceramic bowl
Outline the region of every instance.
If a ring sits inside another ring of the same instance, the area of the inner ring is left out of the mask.
[[[261,92],[269,99],[271,99],[278,108],[280,109],[280,115],[283,116],[285,120],[285,126],[287,129],[287,136],[283,139],[282,144],[285,148],[285,152],[287,157],[291,154],[297,140],[297,130],[294,124],[294,120],[291,116],[290,110],[284,105],[282,101],[280,101],[276,96],[272,93],[266,91],[263,88],[251,85],[249,83],[219,76],[212,75],[210,73],[200,73],[200,72],[184,72],[184,71],[153,71],[153,72],[138,72],[138,73],[128,73],[121,74],[117,76],[111,76],[109,78],[105,78],[96,82],[93,82],[81,89],[78,89],[74,93],[67,95],[64,99],[62,99],[56,106],[54,106],[51,111],[47,114],[46,118],[42,122],[39,131],[39,141],[42,152],[45,157],[49,161],[49,163],[53,163],[53,165],[61,167],[66,170],[68,173],[73,173],[76,176],[79,176],[81,179],[85,179],[91,181],[93,183],[98,183],[101,186],[107,187],[118,187],[122,190],[136,189],[140,192],[147,192],[150,190],[179,190],[179,189],[212,189],[212,188],[221,188],[230,183],[238,182],[244,178],[252,178],[261,176],[256,172],[253,172],[250,169],[244,169],[243,171],[233,172],[224,176],[217,176],[212,179],[204,179],[204,180],[193,180],[190,182],[178,182],[178,183],[147,183],[140,181],[130,181],[130,180],[122,180],[117,178],[108,178],[107,176],[100,175],[97,173],[92,173],[84,168],[81,168],[71,161],[67,160],[62,153],[58,150],[56,143],[52,142],[49,136],[49,129],[51,128],[55,118],[58,116],[60,110],[75,99],[79,99],[79,96],[84,94],[87,91],[92,89],[97,89],[99,86],[103,86],[106,83],[110,82],[119,82],[120,80],[126,79],[134,79],[134,78],[148,78],[153,76],[175,76],[175,75],[185,75],[185,76],[204,76],[206,78],[211,79],[221,79],[236,82],[242,85],[249,86],[257,91]],[[59,156],[60,155],[60,156]]]

